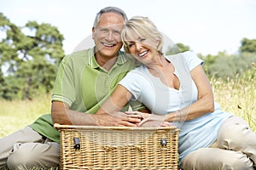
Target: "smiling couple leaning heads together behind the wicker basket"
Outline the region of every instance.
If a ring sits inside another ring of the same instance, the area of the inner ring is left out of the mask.
[[[62,59],[51,114],[0,139],[0,167],[58,167],[60,141],[53,127],[57,122],[175,125],[181,129],[182,169],[255,168],[256,134],[247,122],[214,102],[203,61],[195,53],[165,56],[163,37],[151,20],[127,20],[115,7],[96,14],[92,38],[94,48]],[[126,54],[120,51],[123,45]],[[129,105],[133,111],[125,112]]]

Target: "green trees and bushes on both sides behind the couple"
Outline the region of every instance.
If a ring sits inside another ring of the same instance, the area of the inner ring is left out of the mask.
[[[55,26],[28,21],[25,26],[15,26],[0,13],[0,98],[32,99],[52,90],[57,66],[64,56],[64,37]],[[190,50],[177,43],[168,47],[166,54]],[[243,38],[239,54],[207,54],[204,60],[208,77],[236,79],[254,77],[256,39]]]

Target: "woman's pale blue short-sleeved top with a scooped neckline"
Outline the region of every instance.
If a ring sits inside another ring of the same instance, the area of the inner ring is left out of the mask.
[[[133,94],[132,99],[139,100],[157,115],[181,110],[197,100],[198,90],[190,71],[197,65],[203,65],[203,60],[189,51],[166,56],[166,59],[175,67],[174,74],[180,82],[178,90],[167,87],[160,78],[151,75],[145,65],[130,71],[119,82]],[[215,103],[215,111],[212,113],[187,122],[172,122],[181,129],[178,141],[180,162],[191,151],[211,145],[217,139],[218,127],[230,116],[230,113],[221,111]]]

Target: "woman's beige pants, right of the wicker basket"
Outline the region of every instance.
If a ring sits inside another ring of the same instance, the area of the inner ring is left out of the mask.
[[[231,116],[219,128],[217,141],[209,148],[191,152],[181,167],[184,170],[253,170],[255,163],[256,134],[247,122]]]

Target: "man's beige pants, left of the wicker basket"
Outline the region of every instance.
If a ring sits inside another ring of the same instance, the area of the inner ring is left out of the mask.
[[[0,168],[58,167],[60,145],[27,126],[0,139]]]

